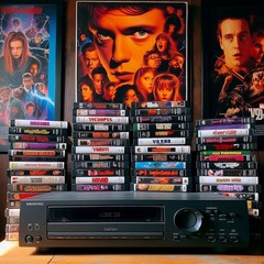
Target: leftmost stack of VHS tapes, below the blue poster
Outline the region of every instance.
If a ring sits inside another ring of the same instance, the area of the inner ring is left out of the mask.
[[[67,190],[67,139],[66,121],[11,120],[7,240],[19,238],[21,199]]]

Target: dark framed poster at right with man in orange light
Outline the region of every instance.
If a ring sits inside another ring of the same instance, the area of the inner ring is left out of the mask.
[[[201,1],[204,118],[264,123],[264,9],[261,0]]]

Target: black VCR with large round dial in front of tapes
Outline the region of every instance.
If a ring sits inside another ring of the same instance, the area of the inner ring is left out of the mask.
[[[243,248],[246,201],[209,193],[48,193],[21,201],[21,246]]]

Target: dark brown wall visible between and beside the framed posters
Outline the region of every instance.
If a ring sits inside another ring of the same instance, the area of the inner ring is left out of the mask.
[[[18,1],[19,2],[19,1]],[[64,41],[63,41],[63,84],[62,84],[62,120],[72,122],[72,109],[75,98],[75,0],[65,0],[64,4]],[[189,65],[193,120],[201,118],[201,29],[200,0],[189,0]],[[4,209],[7,202],[8,155],[0,154],[0,241],[4,239]]]

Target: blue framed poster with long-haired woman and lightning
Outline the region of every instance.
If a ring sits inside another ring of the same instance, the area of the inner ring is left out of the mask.
[[[0,3],[0,152],[12,119],[61,118],[63,0]]]

